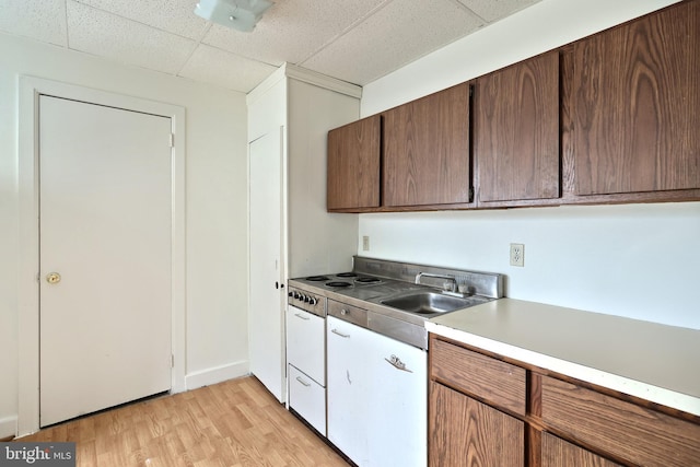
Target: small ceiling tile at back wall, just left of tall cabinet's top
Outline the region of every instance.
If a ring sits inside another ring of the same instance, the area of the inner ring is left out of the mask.
[[[178,75],[247,93],[276,67],[200,44]]]

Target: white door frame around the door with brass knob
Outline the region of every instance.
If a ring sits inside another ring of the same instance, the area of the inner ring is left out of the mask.
[[[171,393],[185,383],[185,108],[74,84],[21,75],[18,82],[18,435],[39,429],[39,171],[38,102],[51,95],[171,118]]]

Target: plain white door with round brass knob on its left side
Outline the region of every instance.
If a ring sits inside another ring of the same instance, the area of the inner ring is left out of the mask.
[[[170,135],[40,97],[42,427],[171,388]]]

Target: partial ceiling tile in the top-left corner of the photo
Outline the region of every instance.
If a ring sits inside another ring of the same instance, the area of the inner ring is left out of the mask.
[[[0,0],[0,31],[66,47],[66,0]]]

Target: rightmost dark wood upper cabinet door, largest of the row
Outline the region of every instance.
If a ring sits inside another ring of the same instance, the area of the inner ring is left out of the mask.
[[[700,2],[576,42],[576,195],[700,187]]]

